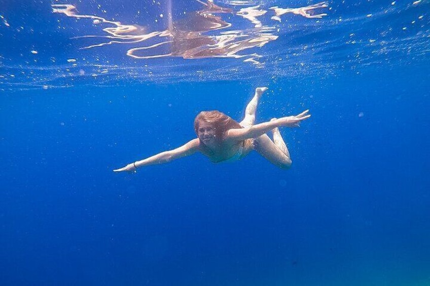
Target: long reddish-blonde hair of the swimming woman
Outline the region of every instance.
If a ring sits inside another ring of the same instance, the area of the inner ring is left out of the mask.
[[[218,110],[202,111],[194,119],[194,131],[198,135],[200,121],[207,122],[215,128],[215,134],[222,140],[223,135],[230,129],[243,128],[239,122],[233,120],[223,112]]]

